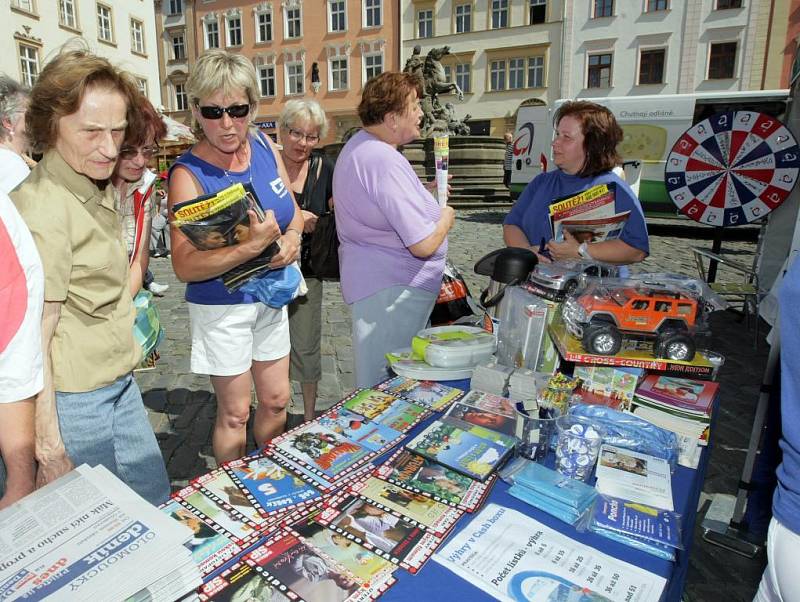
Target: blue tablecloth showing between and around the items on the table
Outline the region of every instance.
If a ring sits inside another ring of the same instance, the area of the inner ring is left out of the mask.
[[[452,381],[445,384],[458,386],[462,389],[469,388],[469,381]],[[433,419],[430,419],[433,420]],[[430,420],[418,425],[409,436],[422,430]],[[669,562],[646,554],[621,543],[606,539],[594,533],[578,533],[571,525],[546,514],[508,494],[508,485],[498,481],[490,493],[486,503],[495,503],[507,508],[513,508],[539,522],[559,531],[576,541],[589,545],[609,556],[638,566],[665,577],[667,587],[662,600],[679,602],[683,587],[686,582],[686,572],[689,567],[689,554],[691,552],[694,524],[697,515],[697,503],[705,480],[706,468],[710,449],[703,450],[700,464],[696,470],[678,466],[672,475],[672,497],[675,511],[683,517],[683,545],[684,550],[678,550],[675,562]],[[455,526],[453,534],[469,525],[473,514],[465,514]],[[523,540],[524,537],[520,536]],[[403,600],[421,602],[423,600],[441,600],[449,602],[471,602],[472,600],[493,600],[489,594],[479,590],[471,583],[465,581],[455,573],[431,558],[422,570],[416,575],[411,575],[403,570],[395,573],[397,583],[391,587],[381,600]]]

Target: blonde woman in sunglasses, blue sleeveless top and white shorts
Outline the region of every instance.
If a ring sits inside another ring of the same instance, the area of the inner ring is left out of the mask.
[[[244,56],[211,50],[192,67],[187,81],[199,142],[181,156],[169,178],[169,204],[250,183],[266,219],[250,212],[247,239],[200,251],[173,226],[172,265],[188,282],[186,301],[192,330],[191,369],[208,374],[217,397],[213,448],[217,462],[245,453],[251,390],[258,406],[253,431],[261,446],[280,434],[289,401],[289,320],[286,307],[273,309],[253,296],[228,292],[220,276],[260,255],[276,242],[271,267],[297,260],[303,216],[287,186],[280,153],[251,129],[259,87]]]

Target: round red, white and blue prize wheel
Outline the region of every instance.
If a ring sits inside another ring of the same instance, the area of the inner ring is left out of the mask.
[[[672,147],[664,183],[684,215],[711,226],[761,219],[789,196],[800,148],[780,121],[754,111],[712,115]]]

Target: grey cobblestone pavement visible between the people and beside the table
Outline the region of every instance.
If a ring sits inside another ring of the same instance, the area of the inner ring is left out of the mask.
[[[485,253],[502,246],[504,215],[504,210],[459,211],[450,234],[449,257],[462,271],[476,297],[486,279],[475,275],[472,266]],[[690,247],[710,246],[710,243],[698,240],[707,232],[663,224],[652,227],[651,256],[641,269],[694,274]],[[724,248],[747,252],[752,250],[753,243],[726,242]],[[215,399],[208,377],[189,371],[189,317],[183,301],[184,286],[175,278],[169,259],[153,259],[151,266],[156,281],[170,285],[159,300],[167,336],[157,368],[138,373],[136,379],[167,462],[172,485],[180,487],[214,467],[211,430]],[[724,279],[724,275],[720,279]],[[319,393],[321,407],[325,407],[353,388],[350,317],[342,302],[338,283],[325,283],[322,324],[323,376]],[[721,411],[704,484],[704,493],[709,495],[736,491],[767,354],[763,342],[757,351],[754,350],[752,331],[748,331],[730,312],[712,316],[712,331],[709,346],[723,353],[727,361],[720,378]],[[302,398],[296,384],[294,387],[292,410],[301,413]],[[724,595],[727,602],[751,600],[763,570],[763,557],[747,560],[706,544],[700,535],[698,526],[685,599],[716,601]]]

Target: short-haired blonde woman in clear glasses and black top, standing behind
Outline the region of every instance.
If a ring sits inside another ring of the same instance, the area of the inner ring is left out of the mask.
[[[300,383],[303,416],[314,419],[317,383],[322,377],[320,339],[322,334],[322,280],[311,269],[308,250],[317,218],[333,205],[333,161],[313,153],[328,130],[325,112],[314,100],[290,100],[278,117],[281,157],[289,174],[289,186],[303,212],[303,251],[301,265],[308,286],[305,297],[289,307],[292,352],[289,376]]]

